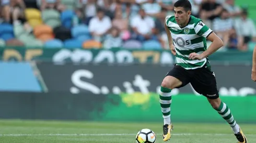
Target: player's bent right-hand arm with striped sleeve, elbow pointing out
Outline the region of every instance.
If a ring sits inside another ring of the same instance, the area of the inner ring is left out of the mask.
[[[204,59],[210,55],[212,55],[216,50],[223,46],[223,41],[210,29],[205,25],[202,21],[196,24],[195,32],[199,36],[203,36],[210,40],[212,44],[200,55],[196,53],[191,53],[189,55],[190,59]]]

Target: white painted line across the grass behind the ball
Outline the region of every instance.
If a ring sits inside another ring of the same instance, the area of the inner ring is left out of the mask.
[[[0,134],[0,136],[135,136],[136,134]],[[157,134],[161,135],[161,134]],[[194,136],[194,135],[202,135],[202,136],[224,136],[224,135],[233,135],[233,134],[171,134],[174,136]],[[247,136],[254,136],[256,134],[247,134]]]

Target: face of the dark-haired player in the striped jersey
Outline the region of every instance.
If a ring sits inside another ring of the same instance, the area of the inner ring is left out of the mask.
[[[183,7],[174,7],[174,16],[177,24],[184,25],[188,21],[190,11],[185,11]]]

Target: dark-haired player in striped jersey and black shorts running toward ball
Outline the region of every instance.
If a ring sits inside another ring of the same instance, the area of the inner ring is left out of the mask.
[[[176,55],[177,63],[167,73],[160,88],[159,102],[164,118],[163,140],[171,138],[170,131],[173,129],[170,120],[171,90],[190,83],[227,121],[239,143],[246,143],[246,136],[233,118],[230,109],[219,98],[215,74],[207,59],[223,46],[223,41],[201,19],[191,16],[191,3],[188,0],[174,3],[174,16],[166,17],[165,29],[171,53]],[[206,38],[212,42],[208,49]]]

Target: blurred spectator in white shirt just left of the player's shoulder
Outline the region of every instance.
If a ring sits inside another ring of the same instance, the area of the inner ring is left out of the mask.
[[[144,9],[139,10],[139,14],[131,21],[131,27],[134,32],[133,37],[141,42],[149,39],[157,40],[155,34],[155,21],[152,17],[146,15]]]

